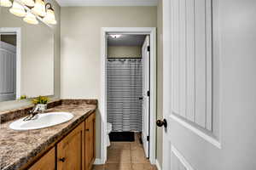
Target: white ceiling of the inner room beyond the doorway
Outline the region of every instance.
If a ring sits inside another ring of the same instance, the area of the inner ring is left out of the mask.
[[[108,46],[143,46],[145,35],[121,35],[113,38],[108,35]]]

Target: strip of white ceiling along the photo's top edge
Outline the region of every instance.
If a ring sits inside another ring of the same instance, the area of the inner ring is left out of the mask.
[[[158,0],[56,0],[61,6],[156,6]]]

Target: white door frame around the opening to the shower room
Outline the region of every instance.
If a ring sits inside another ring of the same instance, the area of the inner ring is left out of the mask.
[[[155,164],[155,120],[156,120],[156,28],[155,27],[102,27],[101,34],[101,99],[99,103],[101,114],[101,158],[95,164],[104,164],[107,161],[107,34],[138,34],[150,36],[150,111],[149,111],[149,161]]]

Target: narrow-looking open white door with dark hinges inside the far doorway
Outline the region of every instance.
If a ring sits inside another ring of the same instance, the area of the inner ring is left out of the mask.
[[[143,43],[143,148],[145,151],[145,155],[149,157],[149,60],[150,60],[150,52],[148,50],[149,47],[149,36],[145,38],[145,42]]]

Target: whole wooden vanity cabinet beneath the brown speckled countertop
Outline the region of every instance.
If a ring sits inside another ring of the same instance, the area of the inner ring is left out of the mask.
[[[91,170],[95,150],[96,114],[92,113],[28,170]]]

